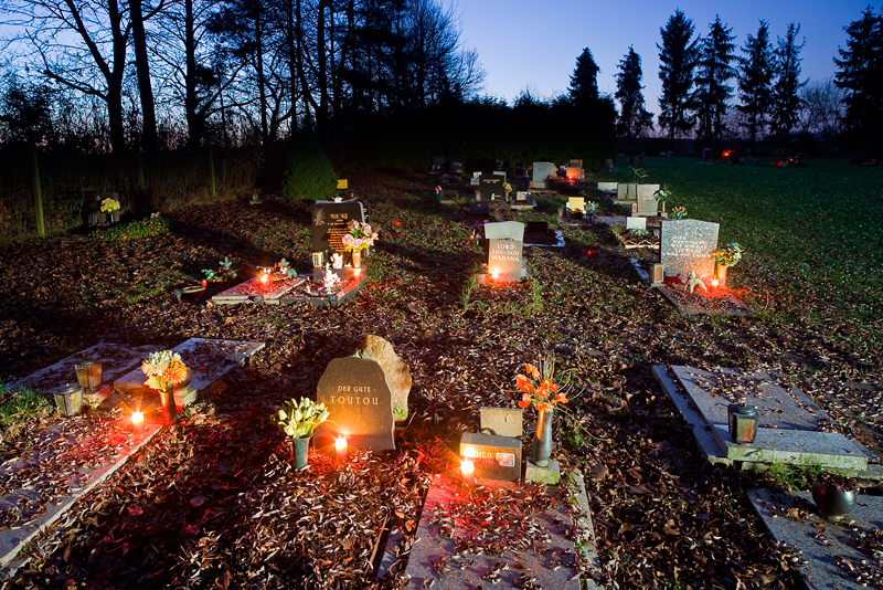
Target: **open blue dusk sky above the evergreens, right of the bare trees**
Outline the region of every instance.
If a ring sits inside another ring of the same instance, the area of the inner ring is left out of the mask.
[[[487,72],[483,94],[511,104],[525,88],[539,98],[566,92],[576,57],[588,48],[600,67],[600,92],[613,95],[619,61],[632,45],[641,57],[647,109],[658,113],[659,29],[675,9],[692,19],[702,35],[720,14],[733,28],[737,48],[749,33],[756,35],[760,19],[769,22],[774,44],[785,36],[789,22],[797,22],[798,40],[806,38],[802,80],[820,80],[833,76],[832,59],[845,44],[843,28],[866,6],[868,0],[461,0],[457,12],[464,44],[478,50]]]

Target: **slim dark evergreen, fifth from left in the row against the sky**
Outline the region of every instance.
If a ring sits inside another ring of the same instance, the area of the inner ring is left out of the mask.
[[[754,145],[766,131],[770,108],[774,62],[767,21],[760,21],[757,36],[748,35],[742,53],[745,54],[738,60],[738,97],[742,104],[737,108],[745,115],[743,127]]]

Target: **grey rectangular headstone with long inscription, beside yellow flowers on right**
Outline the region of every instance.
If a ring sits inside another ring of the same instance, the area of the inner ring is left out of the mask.
[[[711,253],[717,247],[719,228],[717,223],[695,219],[663,220],[659,252],[666,276],[678,276],[685,283],[687,274],[694,271],[696,277],[711,280]]]

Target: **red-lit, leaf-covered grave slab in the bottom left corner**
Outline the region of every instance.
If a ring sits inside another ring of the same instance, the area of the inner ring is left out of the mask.
[[[35,451],[3,464],[0,481],[7,492],[0,497],[0,514],[11,506],[29,504],[32,514],[21,515],[10,523],[12,526],[0,526],[0,579],[15,569],[15,556],[31,539],[51,527],[81,496],[107,480],[162,428],[157,422],[159,412],[147,414],[142,433],[132,432],[125,422],[127,418],[120,415],[117,423],[106,424],[108,432],[94,432],[73,444],[64,444],[68,435],[66,429],[76,426],[77,421],[88,422],[86,418],[71,419],[41,433],[46,444],[35,445]],[[72,460],[72,453],[77,455],[77,461]],[[88,456],[85,460],[78,456],[83,454]],[[84,466],[71,470],[72,464]],[[39,475],[31,482],[34,470]],[[58,494],[43,493],[50,480]]]

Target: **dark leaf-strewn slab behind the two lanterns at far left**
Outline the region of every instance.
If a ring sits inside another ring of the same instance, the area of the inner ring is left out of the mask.
[[[75,383],[76,372],[74,371],[74,365],[86,360],[100,362],[102,380],[105,383],[111,383],[114,379],[139,365],[141,359],[153,350],[156,350],[156,347],[151,346],[127,347],[114,343],[99,343],[62,359],[55,365],[13,381],[6,389],[30,388],[41,393],[51,392],[64,383]]]

